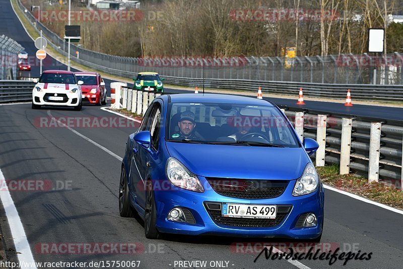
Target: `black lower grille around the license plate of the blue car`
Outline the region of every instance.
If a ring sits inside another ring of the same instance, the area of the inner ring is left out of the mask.
[[[217,224],[238,227],[275,227],[281,224],[290,213],[292,205],[278,205],[277,218],[270,219],[249,219],[249,218],[230,218],[223,217],[221,213],[221,203],[205,202],[207,212]]]

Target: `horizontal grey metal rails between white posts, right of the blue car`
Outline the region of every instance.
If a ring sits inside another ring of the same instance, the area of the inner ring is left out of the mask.
[[[340,165],[343,118],[352,119],[349,172],[365,178],[368,178],[370,166],[371,123],[380,122],[379,182],[385,182],[403,190],[403,123],[401,121],[329,114],[325,111],[297,109],[294,107],[284,108],[286,109],[286,116],[292,123],[295,123],[296,112],[304,113],[303,136],[313,139],[317,139],[318,115],[327,115],[324,157],[327,164]],[[316,154],[311,157],[315,159]]]

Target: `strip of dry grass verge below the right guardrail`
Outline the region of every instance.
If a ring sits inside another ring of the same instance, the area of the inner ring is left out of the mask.
[[[357,194],[375,202],[403,209],[403,192],[380,182],[368,183],[368,179],[352,174],[339,175],[337,165],[317,167],[321,181],[335,188]]]

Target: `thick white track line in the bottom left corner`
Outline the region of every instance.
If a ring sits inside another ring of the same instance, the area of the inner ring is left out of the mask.
[[[5,182],[6,179],[0,169],[0,181]],[[20,261],[21,268],[37,268],[35,265],[34,257],[32,256],[29,247],[27,235],[25,234],[24,227],[22,226],[20,216],[18,216],[17,208],[14,205],[13,198],[11,198],[7,184],[2,184],[3,190],[0,190],[0,199],[2,200],[4,210],[6,211],[7,220],[10,226],[11,234],[13,236],[14,245],[18,260]],[[21,254],[20,254],[21,253]],[[27,264],[28,263],[28,264]]]

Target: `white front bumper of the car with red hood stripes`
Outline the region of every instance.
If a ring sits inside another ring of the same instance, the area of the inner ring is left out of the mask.
[[[63,100],[49,100],[49,96],[63,97]],[[62,106],[78,106],[81,102],[81,91],[70,93],[67,90],[64,91],[32,91],[32,102],[38,105],[62,105]]]

